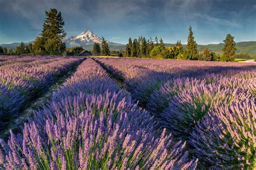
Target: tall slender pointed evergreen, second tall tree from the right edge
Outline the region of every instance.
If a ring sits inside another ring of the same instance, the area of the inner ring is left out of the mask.
[[[194,40],[192,27],[188,29],[190,34],[187,38],[187,45],[186,45],[186,52],[187,52],[187,59],[190,60],[197,60],[198,59],[198,51],[197,51],[197,42]]]

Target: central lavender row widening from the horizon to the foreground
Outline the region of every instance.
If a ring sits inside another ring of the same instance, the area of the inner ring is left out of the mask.
[[[185,143],[155,131],[150,115],[133,104],[92,59],[35,113],[23,134],[1,140],[7,169],[194,169]]]

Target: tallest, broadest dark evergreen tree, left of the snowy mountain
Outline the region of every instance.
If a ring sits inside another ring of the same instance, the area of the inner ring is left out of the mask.
[[[66,36],[63,29],[64,20],[62,13],[56,9],[45,11],[43,31],[41,33],[45,52],[50,55],[60,55],[65,51],[65,42],[62,39]]]

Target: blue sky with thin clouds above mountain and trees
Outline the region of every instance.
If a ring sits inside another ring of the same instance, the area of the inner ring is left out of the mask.
[[[129,37],[162,37],[186,44],[191,25],[198,44],[256,40],[256,1],[0,0],[0,44],[27,42],[42,31],[44,11],[62,12],[67,36],[89,29],[122,44]]]

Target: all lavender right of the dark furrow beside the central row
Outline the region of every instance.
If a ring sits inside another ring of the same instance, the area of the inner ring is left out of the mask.
[[[188,140],[202,162],[215,168],[255,166],[255,65],[97,60],[124,79],[161,126]]]

